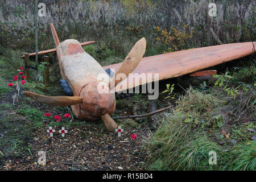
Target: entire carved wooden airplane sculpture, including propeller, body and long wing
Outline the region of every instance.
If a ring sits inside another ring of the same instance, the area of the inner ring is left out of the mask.
[[[27,91],[23,91],[23,93],[33,100],[47,105],[71,106],[73,114],[80,119],[96,120],[101,118],[108,131],[114,131],[117,127],[110,117],[115,110],[115,94],[110,90],[114,89],[115,92],[118,92],[148,83],[148,80],[127,81],[131,79],[130,73],[158,73],[159,80],[164,80],[200,71],[255,52],[255,42],[247,42],[188,49],[142,59],[146,51],[146,40],[142,38],[135,43],[123,63],[101,67],[92,56],[82,49],[77,40],[68,39],[60,43],[53,24],[51,24],[51,31],[56,44],[61,75],[63,79],[67,80],[74,96],[43,96]],[[111,79],[105,71],[108,68],[117,70]],[[116,79],[115,76],[119,73],[125,74],[127,78],[125,80]],[[105,75],[110,81],[98,80],[99,74]],[[117,88],[115,87],[117,84],[122,86]],[[99,93],[97,90],[99,85],[109,92]]]

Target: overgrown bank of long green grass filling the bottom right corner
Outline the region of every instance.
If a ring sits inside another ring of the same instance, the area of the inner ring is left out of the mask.
[[[255,130],[251,113],[255,108],[251,101],[255,86],[247,92],[240,90],[242,97],[236,99],[220,92],[220,88],[215,89],[205,94],[203,90],[189,88],[179,97],[170,117],[147,140],[148,169],[255,170],[255,140],[250,139],[255,132],[248,130]],[[246,106],[236,109],[241,102]],[[239,118],[247,118],[250,123]],[[222,135],[221,130],[226,130],[229,137]],[[209,151],[217,153],[217,165],[209,164]]]

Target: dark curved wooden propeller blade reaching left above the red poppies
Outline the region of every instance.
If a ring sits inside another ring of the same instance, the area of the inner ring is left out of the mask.
[[[68,96],[43,96],[34,92],[23,91],[23,94],[32,98],[35,101],[52,106],[71,106],[83,102],[82,97]]]

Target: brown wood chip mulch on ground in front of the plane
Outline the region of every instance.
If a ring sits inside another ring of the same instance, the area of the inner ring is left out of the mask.
[[[124,129],[121,137],[116,132],[93,126],[65,128],[53,127],[49,137],[46,129],[37,129],[23,159],[6,160],[1,170],[144,170],[148,158],[144,140],[150,132],[146,127]],[[137,140],[131,134],[137,134]],[[46,152],[46,165],[38,164],[38,151]],[[32,154],[32,155],[31,155]]]

